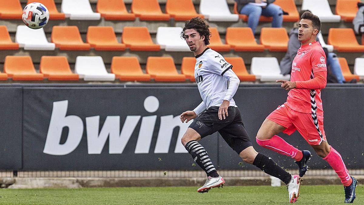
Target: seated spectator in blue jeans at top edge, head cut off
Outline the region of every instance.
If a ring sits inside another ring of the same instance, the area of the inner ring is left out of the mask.
[[[237,11],[240,14],[248,15],[248,26],[253,30],[258,26],[259,18],[272,16],[272,27],[280,28],[283,22],[283,11],[280,6],[272,4],[275,0],[235,0]]]

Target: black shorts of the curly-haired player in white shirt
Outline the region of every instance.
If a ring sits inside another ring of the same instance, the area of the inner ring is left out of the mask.
[[[218,112],[219,107],[210,107],[196,117],[189,127],[194,129],[201,138],[219,132],[225,142],[238,154],[252,146],[244,128],[239,108],[232,106],[227,108],[229,116],[222,120],[219,119]]]

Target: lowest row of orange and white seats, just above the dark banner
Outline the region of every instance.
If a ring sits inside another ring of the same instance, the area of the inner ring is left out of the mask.
[[[241,57],[226,57],[227,62],[233,65],[233,70],[241,81],[261,82],[275,81],[277,79],[289,80],[290,75],[282,76],[275,57],[253,57],[248,73],[244,60]],[[364,58],[356,58],[354,74],[349,70],[345,58],[339,58],[345,80],[355,78],[357,81],[364,78]],[[100,56],[78,56],[75,63],[75,74],[72,73],[67,58],[64,56],[43,56],[40,60],[39,72],[36,73],[31,57],[7,56],[4,62],[4,73],[0,73],[0,80],[12,78],[13,81],[150,81],[156,82],[185,82],[189,79],[194,82],[194,57],[182,59],[181,74],[178,73],[173,58],[148,57],[146,73],[143,73],[137,57],[113,57],[111,73],[108,73]],[[163,65],[163,66],[162,66]],[[269,66],[267,66],[269,65]]]

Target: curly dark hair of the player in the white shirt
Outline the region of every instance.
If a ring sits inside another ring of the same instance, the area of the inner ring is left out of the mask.
[[[206,22],[205,19],[201,19],[200,17],[192,18],[185,23],[185,27],[183,27],[183,30],[181,32],[181,38],[185,39],[185,30],[187,29],[194,29],[196,30],[200,36],[205,36],[205,45],[210,44],[210,29],[209,29],[209,23]]]

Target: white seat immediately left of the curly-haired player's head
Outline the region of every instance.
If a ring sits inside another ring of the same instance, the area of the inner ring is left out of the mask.
[[[157,43],[165,51],[190,51],[186,41],[180,36],[182,27],[158,27]]]

